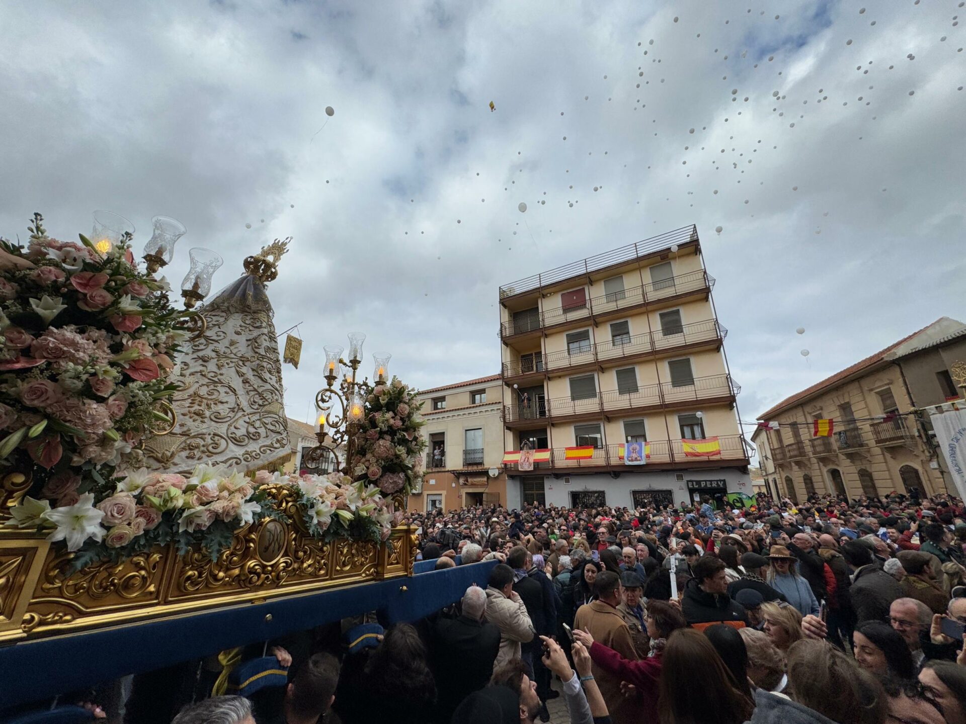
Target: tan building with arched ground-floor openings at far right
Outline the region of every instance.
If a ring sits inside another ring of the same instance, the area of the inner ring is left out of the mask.
[[[815,492],[946,492],[945,461],[919,407],[958,397],[950,368],[966,357],[964,335],[962,322],[936,320],[763,412],[760,420],[779,424],[755,432],[768,438],[772,487],[794,502]],[[819,419],[832,420],[830,435],[814,434]]]

